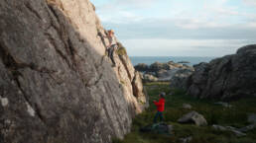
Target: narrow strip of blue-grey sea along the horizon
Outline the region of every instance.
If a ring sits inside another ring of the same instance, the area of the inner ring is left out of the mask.
[[[168,61],[181,62],[187,61],[186,63],[190,66],[198,64],[200,62],[209,62],[216,57],[200,57],[200,56],[130,56],[132,64],[135,66],[138,63],[146,63],[148,65],[158,61],[160,63],[166,63]]]

